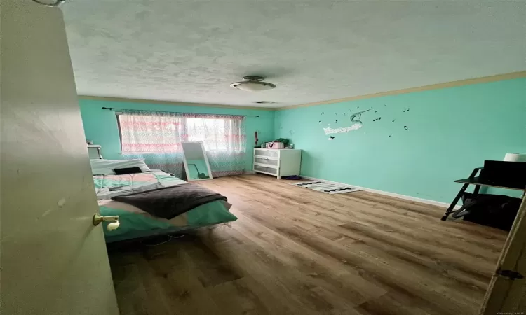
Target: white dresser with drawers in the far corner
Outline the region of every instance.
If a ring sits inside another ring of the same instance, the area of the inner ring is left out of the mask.
[[[254,148],[254,172],[277,176],[299,175],[302,151],[297,149]]]

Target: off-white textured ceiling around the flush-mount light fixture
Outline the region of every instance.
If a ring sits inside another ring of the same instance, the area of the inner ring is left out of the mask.
[[[526,69],[525,1],[72,0],[81,95],[289,106]],[[274,90],[229,87],[266,76]]]

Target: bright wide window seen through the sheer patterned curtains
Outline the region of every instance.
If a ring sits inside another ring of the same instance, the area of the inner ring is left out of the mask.
[[[131,111],[117,117],[123,153],[181,151],[181,141],[203,141],[207,151],[245,151],[243,116]]]

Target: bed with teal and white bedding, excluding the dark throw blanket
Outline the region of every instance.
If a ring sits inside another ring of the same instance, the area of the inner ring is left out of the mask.
[[[98,162],[102,161],[98,160]],[[94,167],[92,162],[92,170],[95,171],[95,169],[96,166]],[[231,204],[226,201],[224,196],[222,196],[224,200],[199,204],[197,207],[169,219],[153,215],[152,213],[155,211],[152,212],[151,209],[147,210],[149,212],[143,211],[142,209],[147,209],[146,207],[136,207],[137,204],[118,201],[119,198],[130,198],[162,192],[163,190],[166,194],[170,193],[170,189],[205,189],[202,186],[189,184],[159,169],[149,169],[144,165],[142,170],[144,172],[136,174],[93,175],[100,214],[102,216],[119,216],[120,226],[116,230],[107,230],[107,223],[103,223],[107,243],[180,232],[237,220],[236,216],[230,213]],[[216,195],[219,194],[216,193]]]

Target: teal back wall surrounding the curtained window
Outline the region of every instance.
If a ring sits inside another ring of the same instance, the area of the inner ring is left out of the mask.
[[[222,109],[204,106],[182,106],[164,104],[146,104],[135,102],[112,102],[101,100],[79,99],[82,122],[86,139],[102,146],[102,155],[107,159],[121,159],[121,141],[119,128],[113,111],[101,107],[119,109],[146,109],[150,111],[175,111],[184,113],[217,113],[227,115],[259,115],[247,117],[245,129],[247,134],[246,169],[252,169],[252,148],[254,147],[254,132],[258,131],[259,143],[274,140],[274,111],[256,109]]]

